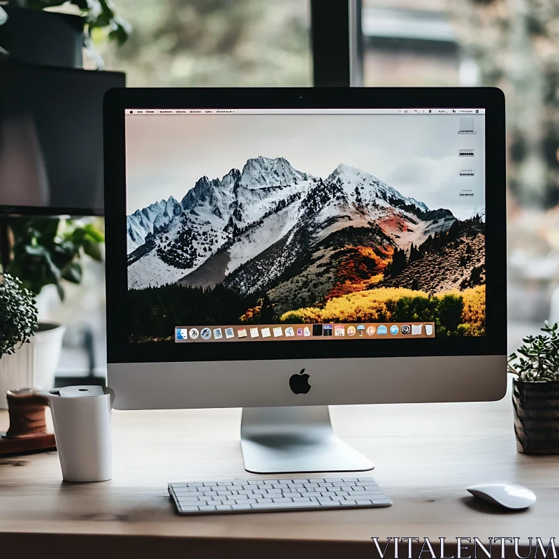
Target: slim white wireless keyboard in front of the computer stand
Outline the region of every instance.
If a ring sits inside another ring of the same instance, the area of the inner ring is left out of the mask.
[[[372,477],[232,479],[168,484],[179,514],[390,507]]]

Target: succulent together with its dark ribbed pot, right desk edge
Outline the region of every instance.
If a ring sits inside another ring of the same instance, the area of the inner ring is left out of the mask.
[[[514,431],[518,452],[559,453],[559,325],[528,336],[509,355],[513,383]]]

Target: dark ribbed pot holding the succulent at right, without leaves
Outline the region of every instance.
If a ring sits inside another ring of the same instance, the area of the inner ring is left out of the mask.
[[[524,382],[512,387],[518,452],[559,454],[559,382]]]

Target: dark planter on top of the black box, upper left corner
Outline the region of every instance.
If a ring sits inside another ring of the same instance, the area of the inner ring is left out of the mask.
[[[0,47],[14,59],[41,66],[82,68],[83,19],[79,15],[3,6]]]

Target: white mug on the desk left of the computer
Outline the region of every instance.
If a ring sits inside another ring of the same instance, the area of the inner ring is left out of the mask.
[[[103,386],[66,386],[48,398],[65,481],[112,478],[110,420],[115,393]]]

